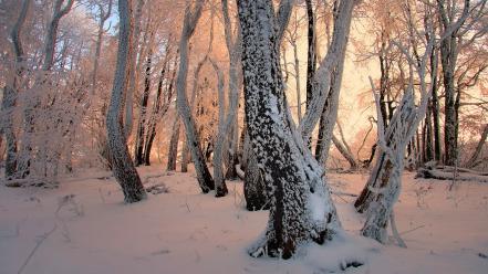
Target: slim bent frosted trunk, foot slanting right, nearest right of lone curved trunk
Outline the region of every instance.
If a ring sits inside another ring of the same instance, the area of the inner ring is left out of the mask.
[[[201,15],[203,6],[204,1],[197,1],[193,9],[190,8],[190,6],[187,6],[187,8],[185,9],[185,20],[181,31],[181,39],[179,42],[180,59],[178,76],[176,78],[176,104],[183,124],[185,125],[187,145],[189,151],[191,152],[198,183],[201,188],[201,191],[204,193],[207,193],[215,188],[215,183],[210,172],[208,171],[207,164],[205,162],[205,158],[201,152],[198,131],[186,96],[186,80],[188,75],[188,43]]]

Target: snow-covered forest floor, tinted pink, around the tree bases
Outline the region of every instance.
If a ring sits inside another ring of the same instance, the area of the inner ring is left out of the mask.
[[[243,208],[242,182],[220,199],[203,194],[194,173],[141,168],[167,193],[136,204],[107,172],[86,170],[58,189],[0,187],[0,273],[487,273],[488,183],[403,177],[395,207],[407,249],[359,236],[364,217],[353,197],[334,196],[346,233],[282,261],[252,259],[267,212]],[[98,177],[98,178],[97,178]],[[105,178],[106,177],[106,178]],[[336,192],[359,193],[366,173],[329,176]],[[356,261],[359,267],[341,270]],[[343,267],[342,267],[343,268]]]

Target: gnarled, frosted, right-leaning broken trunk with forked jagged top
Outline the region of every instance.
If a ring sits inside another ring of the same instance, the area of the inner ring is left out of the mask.
[[[426,31],[432,33],[432,23],[426,20]],[[424,119],[427,112],[428,101],[432,95],[433,84],[430,83],[427,87],[425,82],[426,77],[426,64],[430,57],[430,53],[434,48],[435,38],[434,35],[428,36],[425,53],[417,61],[411,56],[411,53],[405,46],[394,42],[403,56],[406,57],[409,65],[409,84],[405,89],[402,101],[396,107],[390,125],[384,129],[383,117],[381,112],[380,95],[374,92],[376,102],[376,113],[377,113],[377,134],[378,134],[378,147],[382,151],[383,160],[380,159],[378,162],[385,162],[385,165],[378,169],[376,172],[371,175],[370,181],[372,185],[366,185],[365,189],[370,192],[370,203],[367,207],[367,218],[366,222],[362,229],[362,234],[378,242],[384,243],[387,239],[387,224],[393,214],[393,207],[399,197],[399,190],[402,186],[402,172],[404,169],[404,157],[405,150],[408,143],[414,137],[417,131],[419,123]],[[420,101],[418,105],[415,105],[415,89],[414,89],[414,67],[417,74],[418,89],[420,94]],[[437,71],[433,71],[433,74]],[[370,77],[372,89],[375,91],[373,81]],[[386,136],[388,137],[385,139]],[[380,164],[381,165],[381,164]],[[380,176],[381,175],[381,176]],[[377,180],[381,179],[381,180]],[[370,182],[368,181],[368,182]],[[363,193],[365,191],[363,190]],[[360,197],[361,199],[361,197]],[[357,201],[356,201],[357,203]],[[357,207],[356,207],[357,208]],[[396,232],[395,232],[396,233]],[[395,234],[394,233],[394,234]],[[398,242],[403,244],[403,241],[396,233]]]

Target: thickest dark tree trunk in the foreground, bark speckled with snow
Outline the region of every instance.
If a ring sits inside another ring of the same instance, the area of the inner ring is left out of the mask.
[[[277,44],[280,12],[276,18],[270,0],[238,1],[238,11],[246,122],[270,198],[267,230],[250,254],[289,259],[302,243],[331,238],[339,220],[323,169],[295,131],[285,105]]]

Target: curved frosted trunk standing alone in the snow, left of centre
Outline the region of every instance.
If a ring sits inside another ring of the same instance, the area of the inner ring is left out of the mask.
[[[127,140],[123,128],[123,108],[128,76],[128,52],[131,43],[131,0],[118,0],[118,50],[114,75],[114,86],[106,116],[108,147],[112,155],[114,177],[124,192],[127,203],[146,198],[141,178],[128,154]]]

